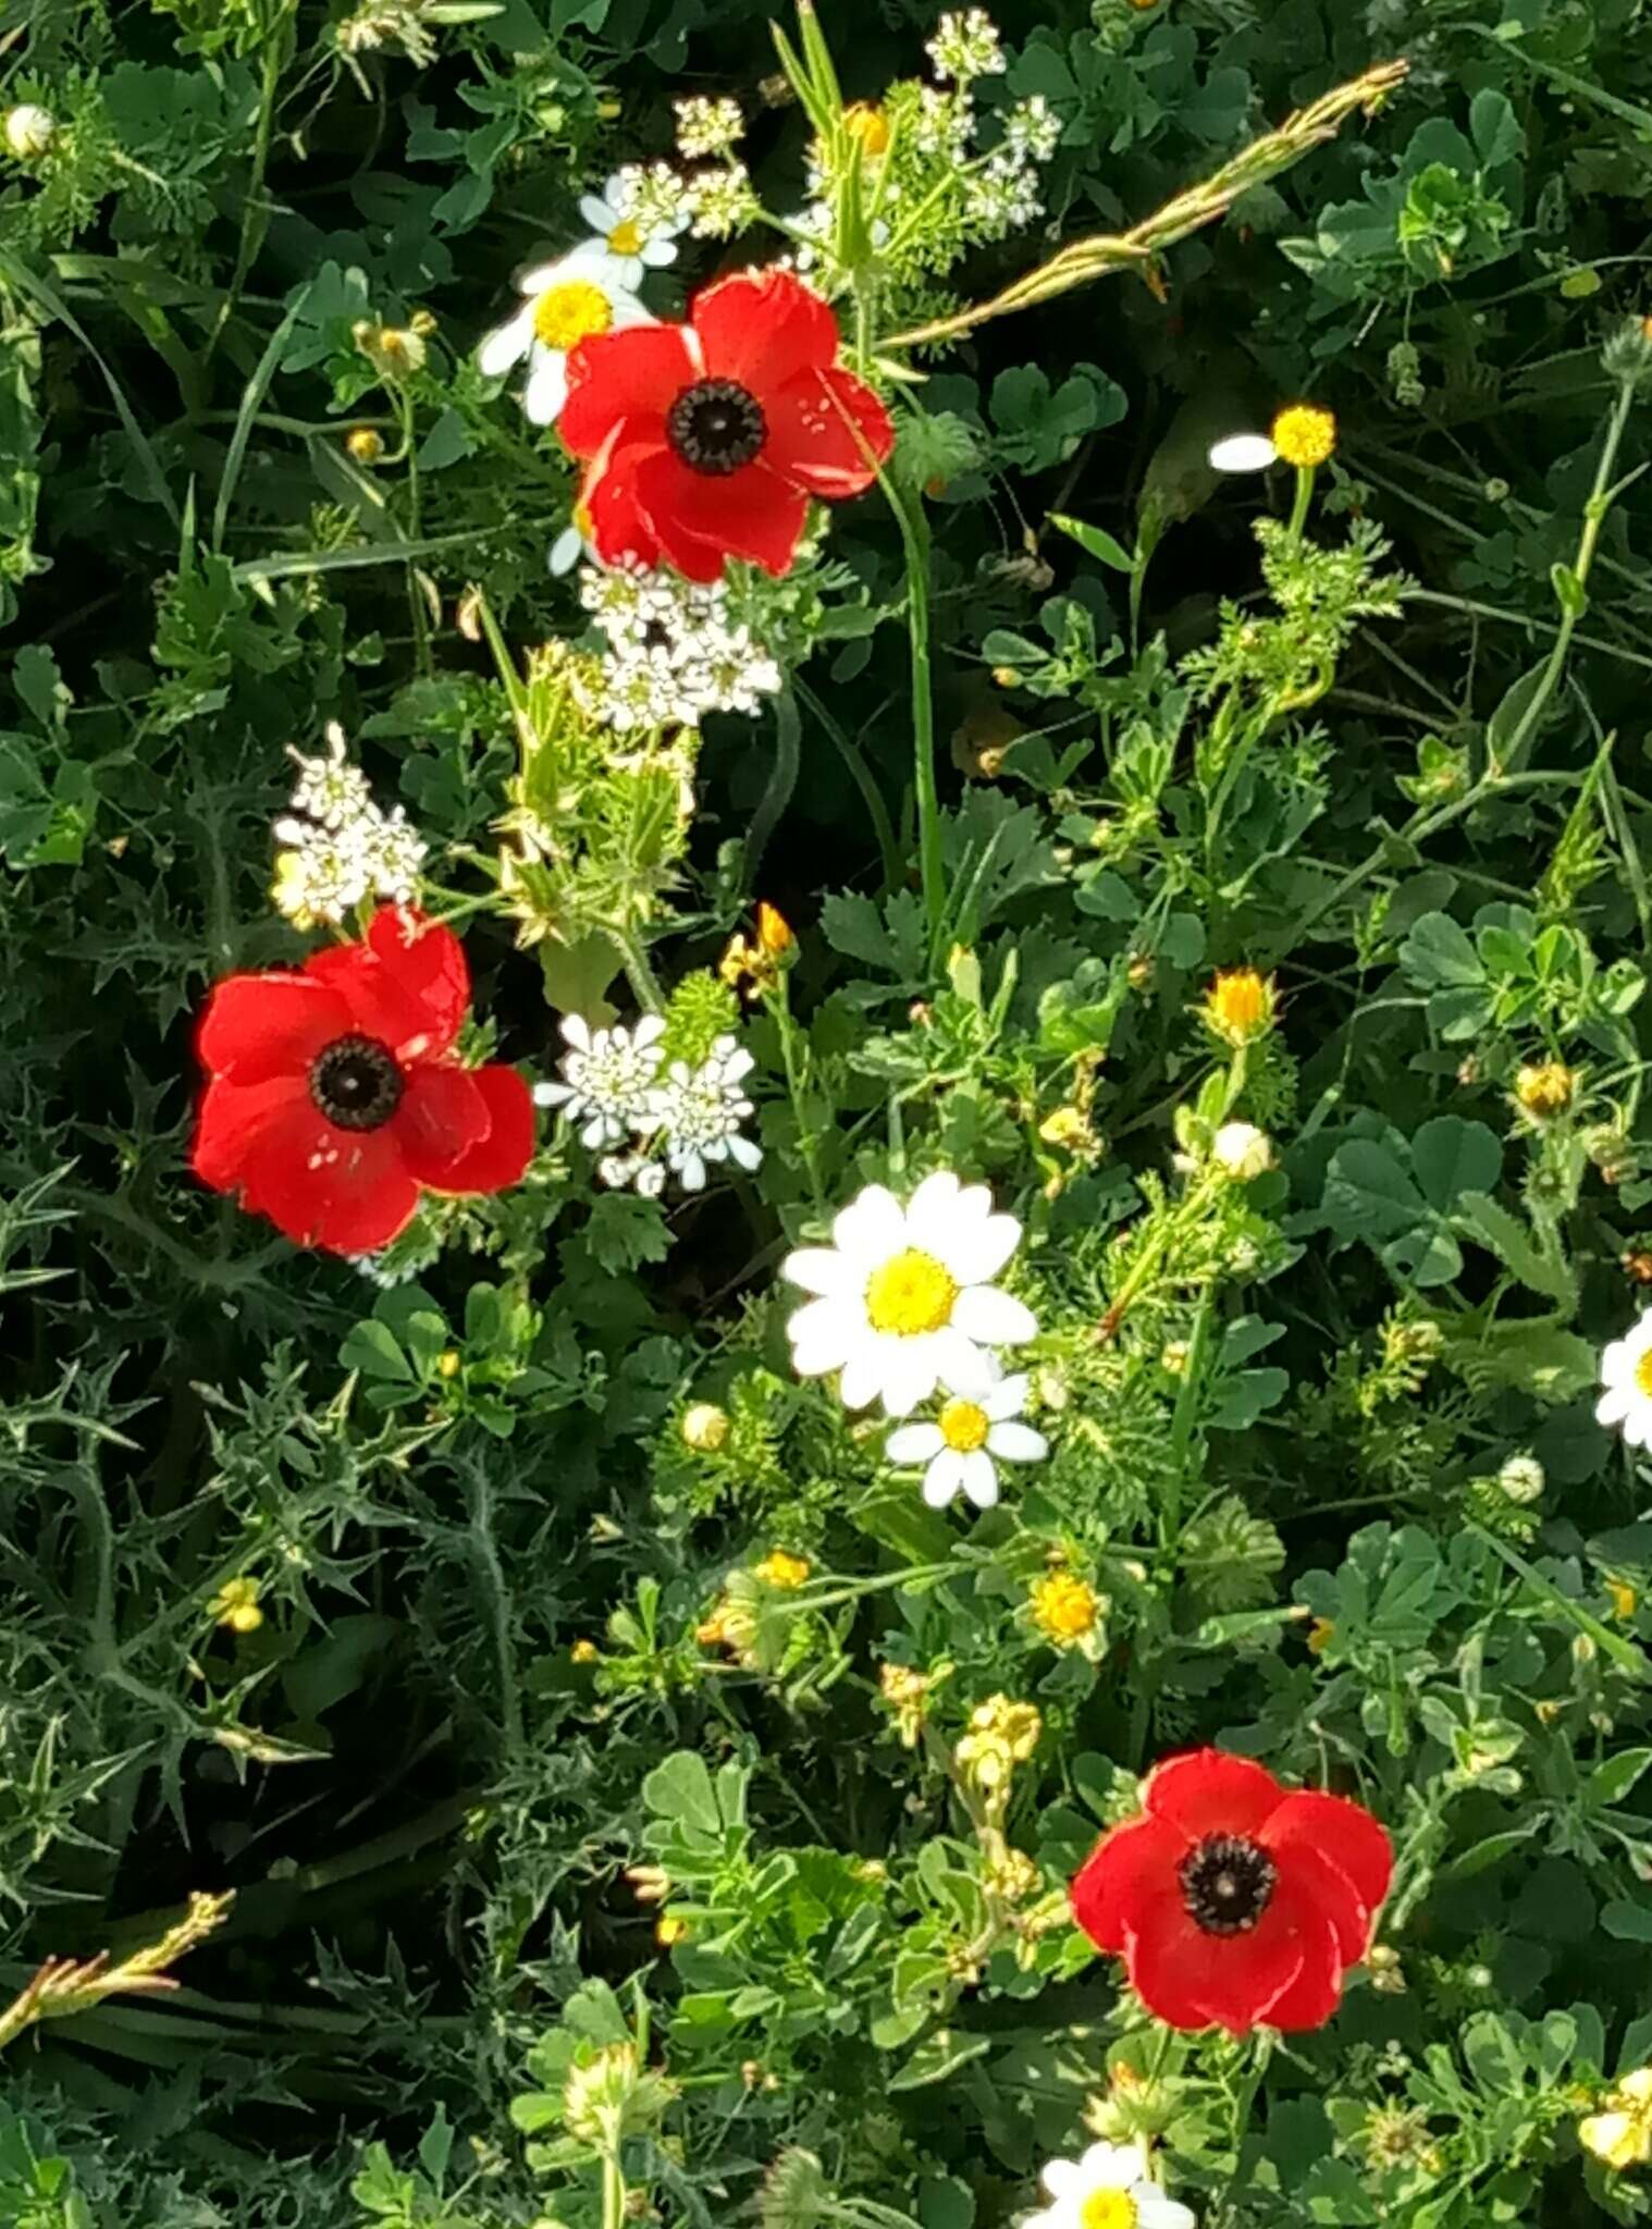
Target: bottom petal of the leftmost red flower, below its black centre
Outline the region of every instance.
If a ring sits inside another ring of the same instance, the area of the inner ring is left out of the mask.
[[[334,1130],[305,1097],[261,1128],[241,1170],[241,1204],[294,1246],[375,1253],[408,1224],[419,1186],[392,1126]]]

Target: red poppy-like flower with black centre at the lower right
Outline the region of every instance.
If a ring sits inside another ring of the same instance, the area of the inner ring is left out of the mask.
[[[1173,2028],[1318,2028],[1371,1948],[1393,1848],[1358,1803],[1193,1750],[1141,1783],[1072,1881],[1083,1933]]]

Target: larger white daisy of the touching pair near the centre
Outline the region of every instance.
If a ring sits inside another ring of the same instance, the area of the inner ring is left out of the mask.
[[[789,1284],[816,1295],[787,1322],[794,1369],[843,1371],[843,1406],[883,1400],[885,1415],[910,1415],[943,1375],[981,1382],[983,1346],[1019,1346],[1039,1328],[992,1284],[1019,1244],[1014,1215],[994,1215],[985,1184],[961,1186],[950,1168],[925,1177],[905,1206],[869,1184],[832,1224],[832,1246],[805,1246],[780,1264]]]

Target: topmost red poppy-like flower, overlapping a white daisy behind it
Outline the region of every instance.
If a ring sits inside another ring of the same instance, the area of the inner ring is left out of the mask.
[[[687,325],[580,341],[557,432],[586,459],[602,562],[664,557],[702,582],[725,557],[787,573],[809,497],[861,495],[894,446],[838,341],[832,308],[783,270],[704,288]]]

